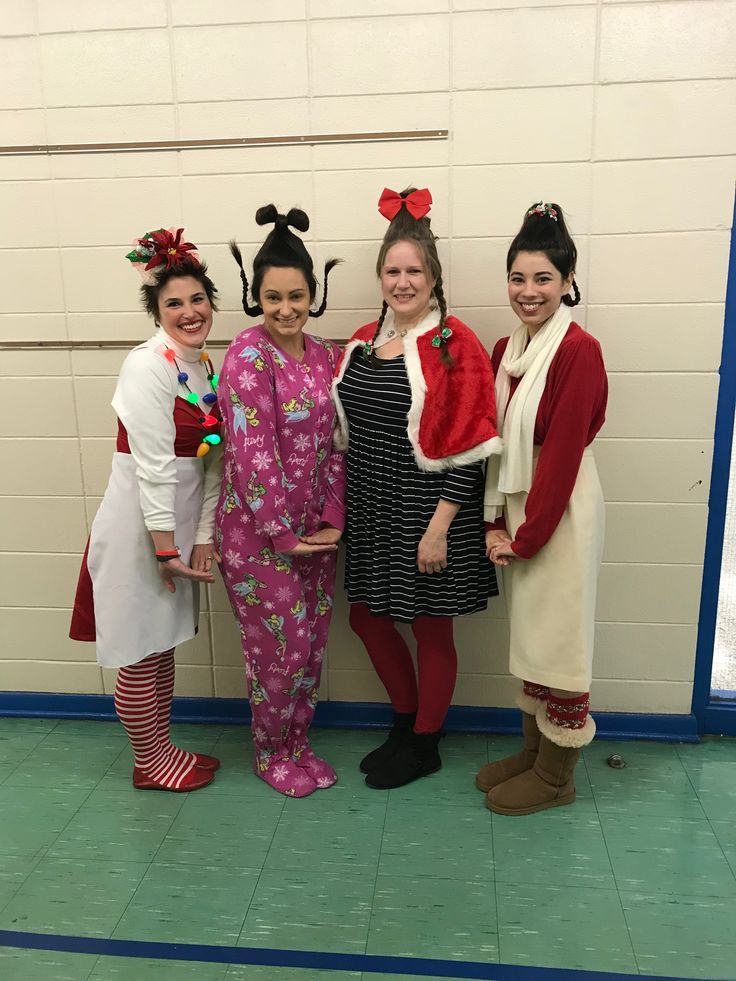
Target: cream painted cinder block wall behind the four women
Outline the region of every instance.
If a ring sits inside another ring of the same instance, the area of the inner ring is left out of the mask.
[[[144,338],[122,255],[186,227],[244,326],[257,206],[302,206],[339,255],[344,338],[378,307],[384,185],[428,185],[453,311],[489,346],[512,324],[503,258],[524,208],[568,210],[579,319],[603,344],[608,508],[594,704],[689,710],[733,205],[733,0],[0,2],[0,142],[447,128],[432,143],[0,157],[0,340]],[[110,691],[66,638],[113,450],[117,351],[3,351],[0,685]],[[338,600],[323,697],[383,692]],[[511,704],[503,604],[457,627],[456,702]],[[179,651],[178,691],[244,692],[224,591]]]

